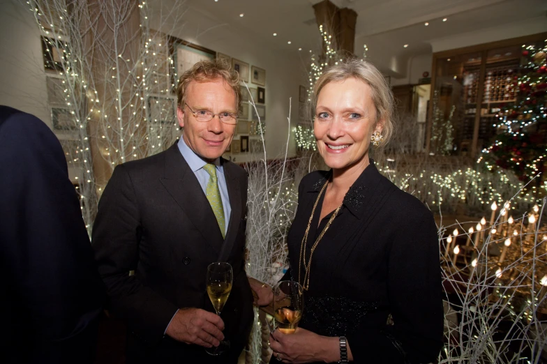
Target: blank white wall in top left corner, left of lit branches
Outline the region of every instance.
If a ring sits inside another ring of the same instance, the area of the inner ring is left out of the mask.
[[[40,31],[27,3],[0,0],[0,105],[37,116],[51,128]]]

